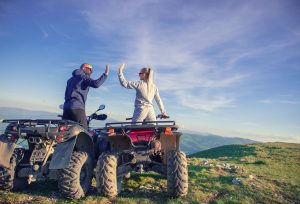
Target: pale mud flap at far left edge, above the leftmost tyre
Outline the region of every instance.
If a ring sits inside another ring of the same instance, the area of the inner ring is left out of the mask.
[[[16,146],[15,143],[0,141],[0,166],[5,168],[10,167],[10,158],[13,155]]]

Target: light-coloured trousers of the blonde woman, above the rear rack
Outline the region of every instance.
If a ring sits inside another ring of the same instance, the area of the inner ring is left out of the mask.
[[[132,122],[156,121],[153,106],[140,106],[134,108]]]

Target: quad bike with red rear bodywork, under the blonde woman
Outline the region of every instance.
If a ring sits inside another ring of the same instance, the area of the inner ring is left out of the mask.
[[[170,197],[186,195],[187,160],[179,150],[181,133],[177,129],[174,121],[107,123],[104,130],[109,145],[96,165],[97,191],[115,197],[130,172],[154,171],[167,177]]]

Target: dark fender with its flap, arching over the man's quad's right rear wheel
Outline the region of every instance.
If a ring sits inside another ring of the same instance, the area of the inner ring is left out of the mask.
[[[77,136],[57,144],[49,169],[64,169],[68,167],[74,150],[87,152],[92,157],[92,160],[95,161],[92,137],[88,132],[83,131]]]

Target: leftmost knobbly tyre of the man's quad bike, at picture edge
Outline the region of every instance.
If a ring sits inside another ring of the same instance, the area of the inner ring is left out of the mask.
[[[28,185],[26,178],[18,178],[16,176],[16,167],[23,159],[23,156],[24,151],[22,149],[15,149],[12,157],[10,158],[10,167],[0,167],[1,190],[21,190]]]

